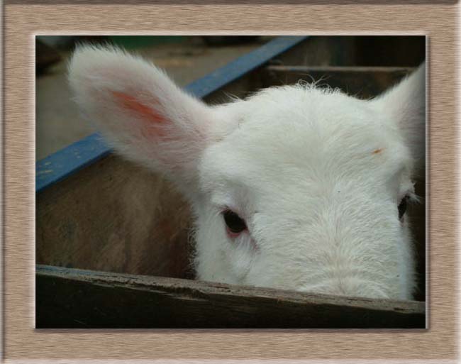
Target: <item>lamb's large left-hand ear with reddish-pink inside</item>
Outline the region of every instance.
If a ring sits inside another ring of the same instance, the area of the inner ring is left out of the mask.
[[[130,160],[189,184],[211,139],[213,111],[161,70],[116,48],[78,48],[70,85],[85,116]]]

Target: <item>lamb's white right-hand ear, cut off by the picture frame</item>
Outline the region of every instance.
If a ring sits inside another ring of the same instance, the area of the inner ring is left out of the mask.
[[[426,62],[374,102],[404,133],[416,168],[423,167],[426,157]]]

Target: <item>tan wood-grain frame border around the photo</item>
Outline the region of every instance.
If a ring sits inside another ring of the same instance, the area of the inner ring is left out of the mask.
[[[4,355],[30,359],[457,358],[456,53],[460,6],[445,4],[4,6]],[[440,1],[439,1],[440,3]],[[429,38],[429,330],[35,331],[35,33],[426,34]],[[436,116],[436,117],[435,117]],[[104,360],[104,363],[107,361]],[[53,360],[54,361],[54,360]],[[67,361],[67,360],[66,360]],[[90,360],[91,362],[94,362]],[[64,360],[59,360],[65,363]],[[164,362],[164,360],[162,360]],[[201,362],[198,360],[196,363]],[[126,363],[126,360],[119,361]]]

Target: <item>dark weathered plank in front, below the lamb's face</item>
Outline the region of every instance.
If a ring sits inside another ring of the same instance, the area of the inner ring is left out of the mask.
[[[36,328],[423,329],[425,304],[38,265]]]

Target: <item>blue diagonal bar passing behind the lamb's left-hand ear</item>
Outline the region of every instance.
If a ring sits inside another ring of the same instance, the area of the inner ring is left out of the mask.
[[[280,36],[270,40],[260,48],[238,57],[209,75],[197,79],[185,87],[186,91],[198,98],[204,98],[265,64],[271,58],[284,53],[309,36]],[[98,133],[73,143],[35,163],[35,193],[52,184],[64,180],[83,167],[105,157],[111,150],[104,144]]]

